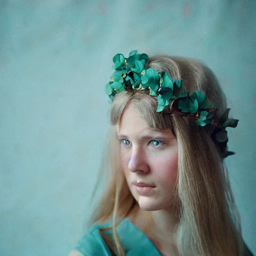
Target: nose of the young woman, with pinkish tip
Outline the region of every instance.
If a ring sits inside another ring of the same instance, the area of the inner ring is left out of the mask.
[[[149,171],[148,160],[142,149],[132,148],[128,159],[128,169],[131,172],[142,171],[147,173]]]

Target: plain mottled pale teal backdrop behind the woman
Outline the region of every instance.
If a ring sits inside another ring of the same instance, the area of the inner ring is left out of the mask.
[[[0,255],[67,255],[83,232],[108,126],[112,57],[202,59],[230,114],[226,159],[256,253],[255,0],[0,0]]]

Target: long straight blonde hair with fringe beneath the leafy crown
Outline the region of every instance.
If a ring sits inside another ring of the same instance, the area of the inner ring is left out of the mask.
[[[202,62],[159,55],[149,58],[146,67],[165,70],[171,77],[181,77],[189,94],[195,89],[203,91],[220,113],[226,109],[225,96],[215,75]],[[117,218],[130,212],[134,198],[120,169],[114,125],[118,125],[123,109],[129,103],[140,111],[149,127],[171,129],[177,138],[180,219],[175,237],[179,255],[241,255],[240,220],[220,149],[202,127],[195,125],[192,117],[156,112],[155,98],[145,91],[124,91],[113,99],[111,135],[101,168],[101,174],[105,173],[108,180],[91,223],[112,218],[114,241],[106,241],[118,255],[124,255],[115,227]]]

